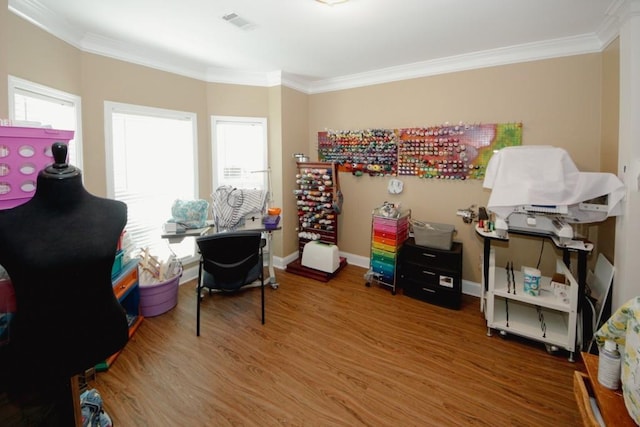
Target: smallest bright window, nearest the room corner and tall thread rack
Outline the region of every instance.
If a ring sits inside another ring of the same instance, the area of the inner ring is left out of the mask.
[[[267,173],[267,119],[213,116],[213,189],[269,190]]]

